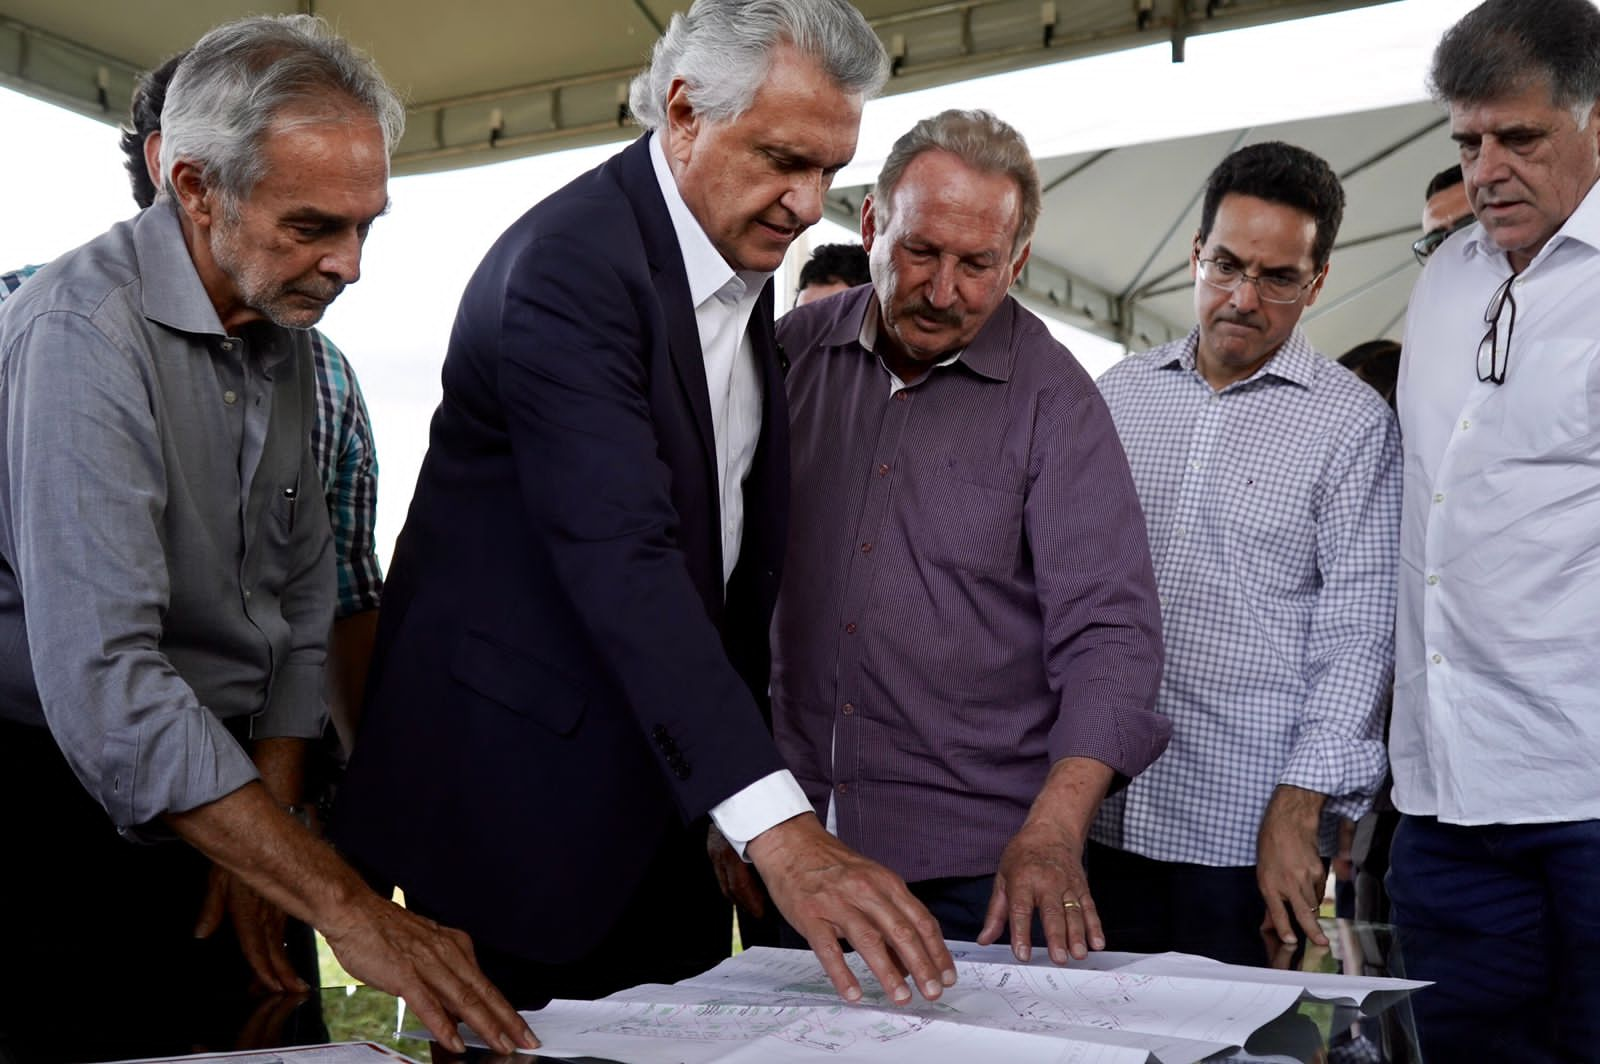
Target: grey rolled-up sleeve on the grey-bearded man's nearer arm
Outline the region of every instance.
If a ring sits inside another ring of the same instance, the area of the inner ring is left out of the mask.
[[[147,363],[67,312],[0,355],[0,517],[56,742],[122,829],[237,790],[250,758],[160,650],[170,485]]]

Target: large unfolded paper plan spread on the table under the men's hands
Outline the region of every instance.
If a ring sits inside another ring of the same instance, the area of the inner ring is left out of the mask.
[[[525,1013],[542,1056],[627,1064],[829,1059],[883,1064],[1192,1064],[1240,1046],[1306,992],[1304,973],[1197,963],[1179,955],[1093,954],[1062,968],[952,942],[957,984],[938,1002],[896,1006],[859,957],[864,997],[838,1000],[810,950],[746,950],[674,986]],[[981,957],[981,960],[978,960]],[[1190,978],[1195,973],[1202,978]],[[1365,982],[1312,976],[1318,997],[1360,1000]]]

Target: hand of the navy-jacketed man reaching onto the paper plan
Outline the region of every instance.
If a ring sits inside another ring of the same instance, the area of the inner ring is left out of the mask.
[[[955,962],[939,922],[906,883],[877,861],[838,842],[805,813],[757,835],[746,846],[773,904],[805,936],[834,989],[861,1000],[838,939],[846,939],[896,1005],[910,1002],[909,974],[925,998],[955,986]]]

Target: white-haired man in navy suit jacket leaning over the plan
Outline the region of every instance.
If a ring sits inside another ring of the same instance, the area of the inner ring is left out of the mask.
[[[758,709],[789,493],[771,272],[885,66],[845,0],[699,0],[634,83],[650,133],[461,301],[336,835],[517,1005],[725,957],[707,816],[842,995],[840,936],[896,1000],[954,981]]]

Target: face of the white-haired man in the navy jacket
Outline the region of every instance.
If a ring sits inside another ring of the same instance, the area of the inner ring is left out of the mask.
[[[770,274],[822,218],[822,197],[856,154],[859,128],[861,96],[779,45],[749,110],[731,122],[696,114],[688,86],[674,82],[662,149],[678,194],[728,266]]]

